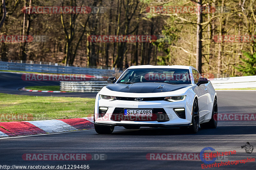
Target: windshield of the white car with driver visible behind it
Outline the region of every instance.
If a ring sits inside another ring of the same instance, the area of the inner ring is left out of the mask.
[[[117,83],[142,82],[191,84],[191,78],[187,69],[128,69]]]

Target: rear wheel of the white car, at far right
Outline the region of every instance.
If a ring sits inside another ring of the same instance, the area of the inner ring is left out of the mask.
[[[217,128],[218,124],[218,103],[217,98],[215,97],[212,107],[212,118],[209,122],[200,124],[202,129],[214,129]]]

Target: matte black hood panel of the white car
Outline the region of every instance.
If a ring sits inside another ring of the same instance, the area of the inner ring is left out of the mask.
[[[164,88],[158,88],[160,85],[164,85]],[[130,86],[129,88],[125,88]],[[134,84],[111,84],[106,87],[109,90],[116,92],[130,92],[130,93],[156,93],[156,92],[171,92],[175,90],[182,89],[184,87],[190,86],[189,84],[185,85],[172,85],[168,83],[134,83]]]

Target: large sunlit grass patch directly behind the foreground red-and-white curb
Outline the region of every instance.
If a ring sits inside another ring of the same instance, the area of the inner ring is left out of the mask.
[[[79,118],[93,115],[95,99],[0,93],[0,122]],[[25,118],[24,118],[25,117]],[[27,117],[27,118],[26,118]]]

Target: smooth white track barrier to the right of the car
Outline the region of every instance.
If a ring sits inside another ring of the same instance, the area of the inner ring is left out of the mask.
[[[256,88],[256,76],[214,78],[211,82],[215,89]]]

